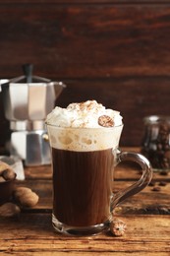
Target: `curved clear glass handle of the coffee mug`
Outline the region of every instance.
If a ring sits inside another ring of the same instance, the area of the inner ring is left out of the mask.
[[[152,178],[152,168],[150,162],[144,158],[141,154],[133,153],[133,152],[122,152],[117,153],[117,163],[120,163],[124,160],[136,161],[142,167],[142,176],[130,187],[123,189],[115,194],[113,194],[112,202],[111,202],[111,211],[122,201],[127,199],[130,196],[138,194],[144,187],[148,185]]]

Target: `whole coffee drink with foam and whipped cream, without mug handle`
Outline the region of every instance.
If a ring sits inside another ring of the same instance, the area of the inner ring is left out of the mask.
[[[72,103],[66,109],[56,107],[47,116],[47,124],[53,161],[54,217],[72,226],[107,222],[113,152],[122,131],[119,112],[88,100]]]

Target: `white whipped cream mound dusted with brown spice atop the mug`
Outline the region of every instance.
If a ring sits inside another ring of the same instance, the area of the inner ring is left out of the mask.
[[[122,125],[119,111],[106,108],[96,100],[71,103],[66,108],[56,106],[47,115],[46,123],[58,127],[101,128]]]

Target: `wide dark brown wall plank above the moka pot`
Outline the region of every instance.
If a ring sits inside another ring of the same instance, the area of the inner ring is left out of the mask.
[[[49,78],[169,76],[170,7],[7,4],[0,8],[0,77],[23,63]]]

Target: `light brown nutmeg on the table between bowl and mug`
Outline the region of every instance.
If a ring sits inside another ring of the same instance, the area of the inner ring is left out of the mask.
[[[33,207],[37,204],[39,197],[27,187],[18,187],[14,191],[14,199],[22,207]]]

